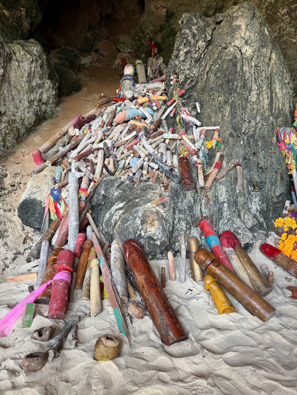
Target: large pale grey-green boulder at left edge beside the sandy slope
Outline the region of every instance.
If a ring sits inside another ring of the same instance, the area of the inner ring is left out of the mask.
[[[0,156],[15,147],[58,103],[53,64],[35,40],[0,34]]]

